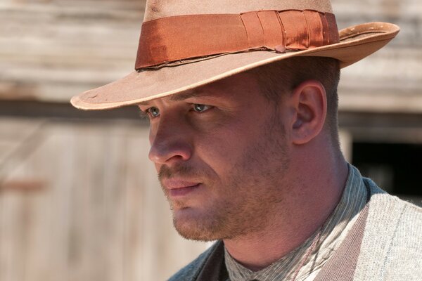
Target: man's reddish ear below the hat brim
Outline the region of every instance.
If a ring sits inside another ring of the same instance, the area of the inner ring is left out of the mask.
[[[293,90],[289,98],[293,118],[290,130],[294,144],[308,143],[324,126],[327,112],[326,91],[321,82],[307,80]]]

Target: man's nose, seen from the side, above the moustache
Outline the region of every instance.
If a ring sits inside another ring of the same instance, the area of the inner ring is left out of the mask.
[[[155,164],[186,161],[192,155],[192,143],[186,128],[176,122],[160,122],[158,129],[151,129],[149,159]]]

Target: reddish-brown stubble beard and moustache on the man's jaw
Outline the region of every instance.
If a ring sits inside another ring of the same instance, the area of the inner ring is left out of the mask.
[[[259,235],[271,224],[275,209],[283,204],[283,197],[277,195],[283,189],[281,182],[290,162],[284,132],[280,122],[269,119],[263,126],[264,137],[251,143],[243,157],[226,173],[230,178],[222,183],[207,185],[206,188],[218,189],[221,197],[212,209],[201,212],[197,217],[179,219],[175,209],[183,209],[184,201],[170,200],[167,190],[163,188],[172,209],[174,228],[179,235],[188,240],[233,240],[254,233]],[[159,178],[173,174],[207,176],[191,166],[177,166],[172,170],[162,166]]]

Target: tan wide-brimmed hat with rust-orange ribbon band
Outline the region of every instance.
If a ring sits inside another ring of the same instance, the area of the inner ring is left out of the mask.
[[[71,103],[82,110],[134,105],[297,56],[335,58],[346,67],[398,32],[386,22],[339,32],[328,0],[149,0],[135,71]]]

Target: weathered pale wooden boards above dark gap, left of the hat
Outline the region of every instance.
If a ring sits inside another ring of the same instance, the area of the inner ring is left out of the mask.
[[[57,101],[131,72],[142,0],[1,0],[0,98]]]

